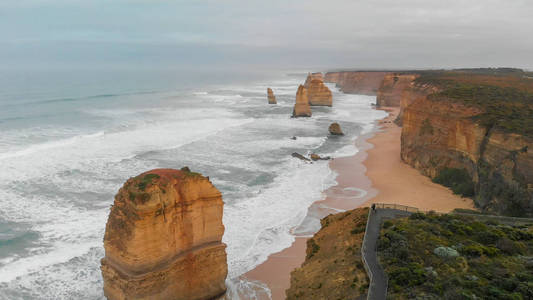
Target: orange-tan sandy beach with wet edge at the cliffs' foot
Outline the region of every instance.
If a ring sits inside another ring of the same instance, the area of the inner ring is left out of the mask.
[[[440,212],[473,208],[472,200],[454,195],[401,161],[401,127],[393,122],[399,108],[383,109],[389,116],[380,121],[377,133],[356,140],[356,155],[330,161],[330,168],[338,173],[338,184],[325,191],[326,198],[315,202],[308,214],[323,217],[376,202]],[[296,237],[291,247],[270,255],[244,277],[268,285],[273,300],[285,299],[290,272],[305,260],[306,241],[306,237]]]

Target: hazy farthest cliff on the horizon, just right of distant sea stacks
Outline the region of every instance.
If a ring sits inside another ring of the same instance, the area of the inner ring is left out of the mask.
[[[376,95],[378,88],[383,81],[383,77],[386,74],[388,74],[388,72],[328,72],[324,77],[324,81],[335,83],[336,86],[344,93]]]

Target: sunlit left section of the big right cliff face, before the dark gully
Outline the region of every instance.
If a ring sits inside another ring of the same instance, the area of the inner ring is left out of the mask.
[[[403,112],[403,161],[429,177],[445,167],[473,172],[486,133],[471,120],[479,113],[458,103],[414,100]]]

